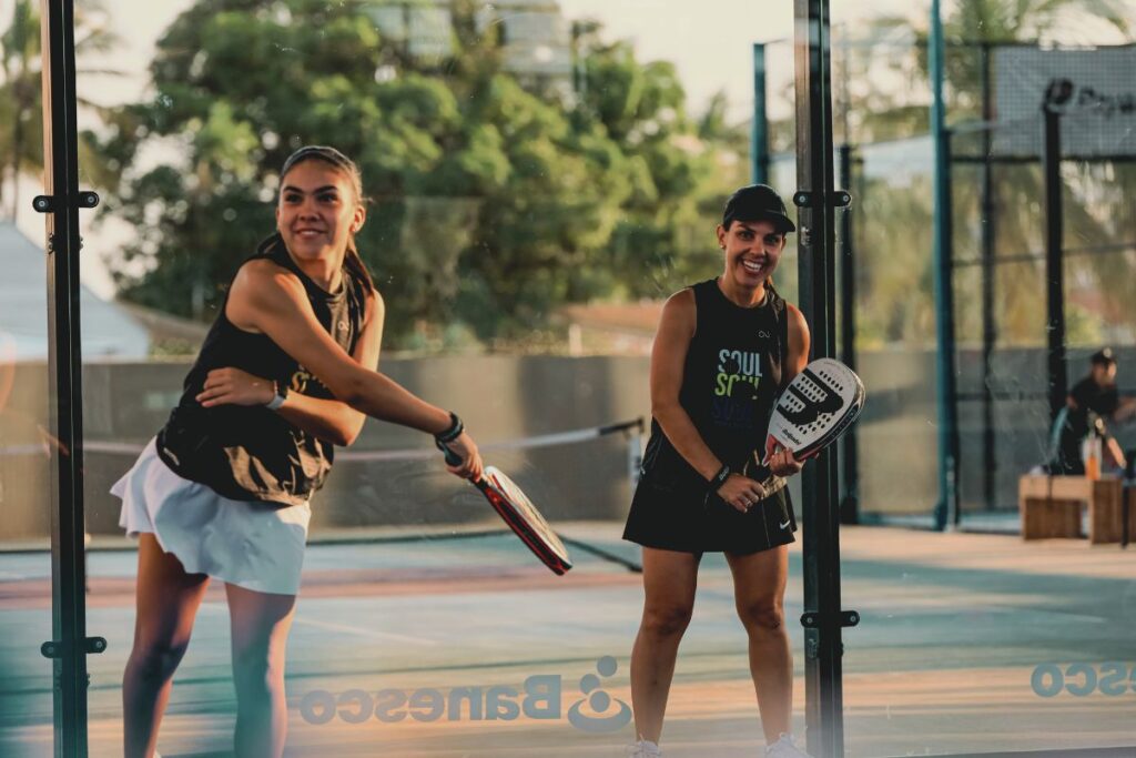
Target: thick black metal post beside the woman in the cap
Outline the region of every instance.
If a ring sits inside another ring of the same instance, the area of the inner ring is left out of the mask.
[[[846,192],[833,189],[833,113],[829,0],[794,0],[796,18],[797,250],[801,310],[812,332],[813,357],[836,355],[835,208]],[[842,627],[858,617],[841,610],[840,514],[834,450],[804,467],[805,724],[809,752],[844,755]]]

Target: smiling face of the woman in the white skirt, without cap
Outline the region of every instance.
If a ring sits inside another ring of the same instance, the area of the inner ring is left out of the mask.
[[[281,177],[276,228],[301,261],[342,261],[365,218],[350,177],[326,161],[303,160]]]

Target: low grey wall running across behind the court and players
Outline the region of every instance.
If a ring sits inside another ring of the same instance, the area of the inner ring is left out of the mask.
[[[1088,349],[1072,350],[1070,365]],[[1136,350],[1118,352],[1121,376],[1136,375]],[[982,352],[959,353],[960,388],[982,382]],[[929,513],[936,497],[935,364],[926,349],[864,350],[859,373],[869,388],[857,432],[861,514]],[[1017,476],[1044,460],[1049,439],[1045,351],[1000,349],[992,365],[999,392],[995,492],[999,509],[1016,507]],[[448,398],[477,432],[487,461],[515,476],[553,522],[621,520],[630,502],[637,428],[601,434],[619,422],[650,418],[649,359],[591,357],[421,358],[384,361],[386,370],[426,397]],[[45,367],[17,364],[0,410],[0,545],[47,544],[51,475]],[[87,364],[84,392],[86,527],[94,544],[117,538],[118,500],[110,485],[165,423],[179,394],[184,363]],[[978,399],[959,402],[967,513],[983,500],[983,416]],[[1118,430],[1121,443],[1136,435]],[[339,450],[327,486],[314,501],[312,536],[371,527],[423,534],[471,527],[491,516],[471,490],[451,481],[420,435],[368,422],[359,441]],[[794,484],[794,497],[796,485]],[[799,502],[799,500],[797,500]],[[1011,525],[1012,526],[1012,525]]]

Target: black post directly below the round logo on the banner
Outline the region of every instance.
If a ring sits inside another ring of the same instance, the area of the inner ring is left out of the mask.
[[[1066,405],[1064,219],[1061,199],[1061,114],[1050,105],[1045,115],[1045,282],[1047,284],[1050,424]]]

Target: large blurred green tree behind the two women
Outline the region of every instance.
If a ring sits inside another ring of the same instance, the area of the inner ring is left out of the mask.
[[[108,213],[137,230],[114,264],[120,297],[210,318],[307,143],[362,169],[359,248],[392,348],[508,344],[562,303],[665,295],[705,263],[736,178],[718,167],[744,164],[722,103],[692,119],[670,64],[594,23],[574,92],[507,72],[479,3],[451,6],[441,60],[385,39],[375,5],[201,0],[166,30],[152,97],[99,145],[122,176]]]

